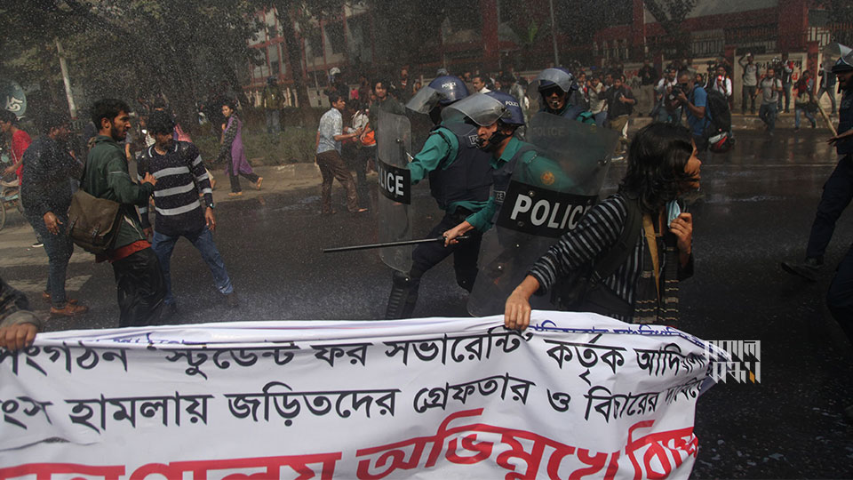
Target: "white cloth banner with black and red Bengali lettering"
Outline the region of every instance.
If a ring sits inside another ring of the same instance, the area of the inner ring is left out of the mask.
[[[549,311],[45,333],[0,350],[0,480],[687,478],[725,355]]]

